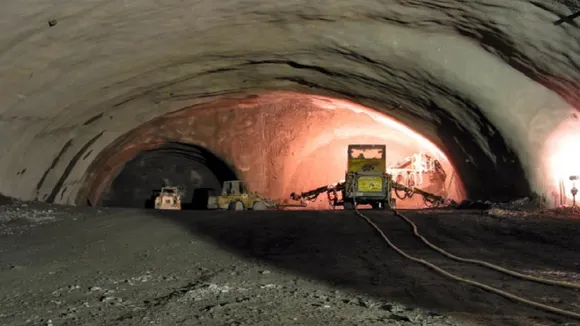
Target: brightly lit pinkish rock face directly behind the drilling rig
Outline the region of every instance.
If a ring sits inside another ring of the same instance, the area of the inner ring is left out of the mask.
[[[288,191],[306,191],[345,179],[349,144],[386,145],[387,173],[394,181],[417,187],[434,195],[455,201],[465,199],[461,178],[445,154],[417,132],[376,111],[343,101],[314,101],[327,129],[308,135],[288,163],[293,169],[287,182]],[[326,117],[325,115],[329,115]],[[420,159],[422,158],[422,160]],[[437,168],[429,164],[437,164]],[[294,188],[292,188],[294,187]],[[425,208],[421,196],[394,192],[399,208]],[[325,195],[309,203],[312,209],[330,208]]]

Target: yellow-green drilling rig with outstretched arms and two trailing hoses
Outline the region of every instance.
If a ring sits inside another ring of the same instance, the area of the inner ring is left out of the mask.
[[[392,197],[395,190],[405,192],[408,197],[417,193],[431,207],[444,203],[441,196],[393,182],[392,175],[386,173],[386,170],[386,145],[351,144],[347,148],[344,181],[302,193],[293,192],[290,198],[314,201],[326,192],[331,206],[343,206],[345,210],[356,209],[357,205],[371,205],[373,209],[395,209],[396,200]]]

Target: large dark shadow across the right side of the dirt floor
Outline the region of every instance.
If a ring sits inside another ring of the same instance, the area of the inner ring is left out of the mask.
[[[382,300],[441,313],[554,317],[495,294],[458,284],[403,258],[352,212],[153,211],[152,214],[177,223],[192,234],[207,238],[242,257],[258,259],[293,274]],[[580,223],[555,225],[554,221],[548,221],[528,229],[525,224],[505,226],[493,222],[486,225],[469,216],[473,214],[469,212],[440,216],[412,211],[406,214],[430,241],[466,258],[484,259],[523,271],[556,268],[560,272],[573,273],[579,269],[575,265],[577,259],[573,258],[578,258],[580,240],[573,234],[580,231]],[[561,291],[560,288],[518,281],[483,267],[448,260],[413,237],[409,225],[390,212],[368,211],[367,215],[401,249],[457,275],[498,288],[508,287],[509,291],[527,298]],[[545,232],[548,224],[552,229]],[[566,232],[566,236],[557,232]],[[544,238],[538,234],[543,234]],[[568,296],[557,293],[563,300],[576,300],[572,290]]]

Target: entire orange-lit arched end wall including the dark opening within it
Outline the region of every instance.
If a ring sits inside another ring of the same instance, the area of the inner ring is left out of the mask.
[[[184,208],[204,208],[208,190],[218,193],[223,181],[240,179],[250,191],[292,204],[291,192],[343,180],[348,144],[363,143],[386,145],[387,172],[399,182],[465,198],[450,160],[410,128],[348,101],[273,92],[186,108],[136,128],[95,160],[78,202],[143,207],[153,190],[172,185],[185,190]],[[402,164],[418,154],[439,162],[443,175]],[[329,208],[322,196],[308,207]],[[398,207],[425,204],[416,196]]]

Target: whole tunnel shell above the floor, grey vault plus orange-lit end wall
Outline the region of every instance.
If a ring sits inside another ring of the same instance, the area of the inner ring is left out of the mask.
[[[431,151],[458,198],[551,204],[580,174],[580,30],[554,24],[571,2],[191,4],[203,19],[151,6],[0,13],[0,193],[136,207],[163,179],[189,197],[236,177],[286,198],[341,174],[352,141],[393,161]]]

